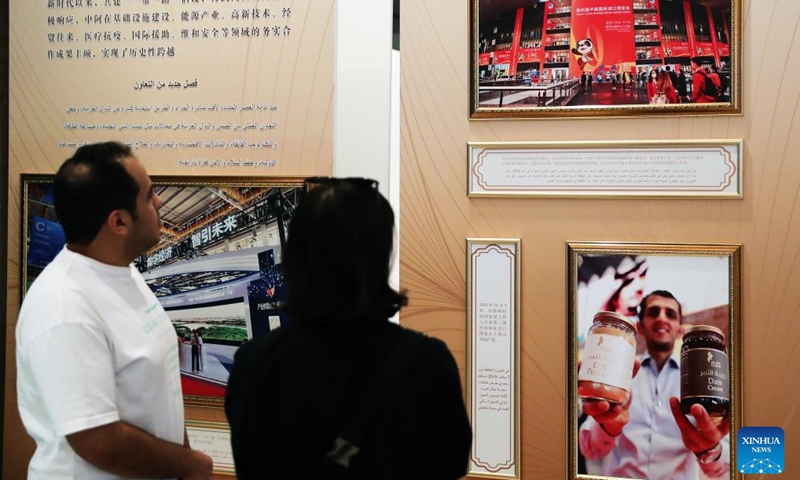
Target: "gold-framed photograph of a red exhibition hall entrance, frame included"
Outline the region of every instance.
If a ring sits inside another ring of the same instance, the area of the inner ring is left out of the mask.
[[[471,0],[470,118],[741,114],[742,0]]]

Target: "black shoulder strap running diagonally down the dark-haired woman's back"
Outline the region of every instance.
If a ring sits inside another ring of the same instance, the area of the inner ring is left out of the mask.
[[[392,349],[386,362],[378,369],[370,389],[359,402],[355,414],[336,437],[331,451],[325,455],[326,459],[344,469],[349,468],[350,460],[363,446],[367,432],[378,419],[381,409],[424,339],[422,334],[408,332]]]

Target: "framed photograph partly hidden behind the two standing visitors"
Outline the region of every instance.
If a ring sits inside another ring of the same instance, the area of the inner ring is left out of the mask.
[[[152,179],[161,242],[134,265],[172,320],[186,402],[222,405],[239,346],[289,322],[281,247],[303,179]],[[52,182],[22,175],[23,296],[65,244]]]

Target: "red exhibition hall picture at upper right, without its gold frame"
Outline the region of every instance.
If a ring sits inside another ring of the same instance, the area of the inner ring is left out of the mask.
[[[647,104],[648,79],[662,71],[689,102],[693,57],[723,81],[718,98],[730,98],[729,1],[479,4],[481,105]]]

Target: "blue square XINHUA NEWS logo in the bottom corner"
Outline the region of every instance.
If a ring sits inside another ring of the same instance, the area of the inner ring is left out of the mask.
[[[739,429],[736,461],[741,473],[783,473],[783,429],[742,427]]]

